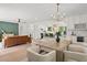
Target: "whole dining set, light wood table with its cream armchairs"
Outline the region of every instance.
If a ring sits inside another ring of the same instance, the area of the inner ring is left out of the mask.
[[[74,43],[73,36],[32,40],[26,52],[29,62],[87,62],[87,43]]]

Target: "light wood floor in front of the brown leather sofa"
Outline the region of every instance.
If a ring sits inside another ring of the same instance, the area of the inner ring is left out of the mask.
[[[0,50],[0,62],[23,62],[26,61],[26,48],[30,44],[18,45]]]

